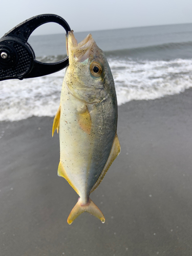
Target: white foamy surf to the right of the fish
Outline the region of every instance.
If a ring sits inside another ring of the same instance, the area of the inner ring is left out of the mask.
[[[192,59],[109,61],[119,105],[179,94],[192,87]]]

